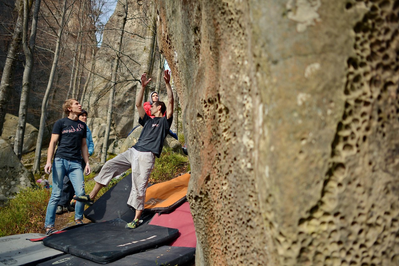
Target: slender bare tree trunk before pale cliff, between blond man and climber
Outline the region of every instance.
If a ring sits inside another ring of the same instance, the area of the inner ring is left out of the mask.
[[[127,0],[124,0],[124,14],[122,18],[122,25],[120,27],[120,38],[119,38],[119,47],[116,51],[114,67],[112,70],[112,77],[111,77],[111,91],[109,93],[109,103],[108,103],[108,112],[107,112],[107,127],[105,128],[105,136],[103,142],[103,149],[101,151],[101,163],[105,163],[107,160],[107,150],[108,150],[108,139],[109,139],[109,132],[111,131],[111,122],[112,122],[112,113],[114,108],[114,97],[115,97],[115,87],[117,84],[117,73],[118,73],[118,65],[119,65],[119,58],[120,58],[120,51],[122,49],[122,40],[123,40],[123,33],[124,33],[124,26],[126,24],[127,19]]]

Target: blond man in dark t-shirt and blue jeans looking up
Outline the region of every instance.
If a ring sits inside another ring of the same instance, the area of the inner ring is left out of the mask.
[[[87,127],[86,124],[78,119],[82,111],[82,106],[75,99],[65,100],[62,108],[68,117],[57,120],[53,126],[49,149],[47,151],[47,164],[44,167],[45,173],[49,174],[53,170],[53,190],[47,205],[44,229],[46,234],[55,233],[54,228],[55,211],[61,197],[63,179],[66,175],[72,182],[75,194],[85,195],[85,180],[82,172],[82,160],[85,160],[85,173],[91,172],[89,165],[89,152],[86,144]],[[55,146],[58,144],[54,155]],[[51,159],[54,160],[51,164]],[[83,203],[75,205],[75,223],[82,224]]]

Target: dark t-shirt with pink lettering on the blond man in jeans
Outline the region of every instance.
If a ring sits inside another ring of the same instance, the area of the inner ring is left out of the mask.
[[[82,138],[86,138],[87,126],[81,120],[61,118],[53,126],[53,134],[58,134],[58,148],[54,158],[81,161]]]

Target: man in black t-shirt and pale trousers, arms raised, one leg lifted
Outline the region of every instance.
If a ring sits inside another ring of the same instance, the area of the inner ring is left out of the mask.
[[[93,200],[102,187],[108,185],[113,177],[132,168],[132,189],[127,203],[136,210],[136,214],[134,220],[126,224],[126,229],[133,229],[140,225],[139,218],[144,209],[148,177],[154,168],[155,156],[159,158],[162,152],[164,140],[173,119],[174,99],[170,86],[170,71],[165,70],[164,72],[168,108],[164,102],[153,102],[150,112],[154,118],[148,116],[142,106],[144,90],[150,80],[147,80],[146,73],[141,75],[141,89],[136,99],[136,107],[140,115],[138,122],[143,129],[137,143],[104,164],[99,175],[94,178],[96,184],[89,195],[73,197],[76,201],[84,202],[89,206],[93,205]],[[166,116],[163,116],[165,111]]]

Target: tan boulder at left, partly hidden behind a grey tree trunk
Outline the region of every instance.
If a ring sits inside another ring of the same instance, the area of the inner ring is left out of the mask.
[[[5,140],[11,148],[14,148],[15,132],[18,124],[18,116],[6,114],[3,132],[1,137]],[[24,144],[22,145],[22,154],[33,152],[36,149],[36,141],[38,140],[39,130],[29,123],[26,123]]]

